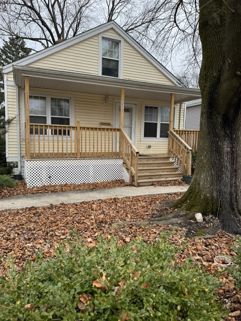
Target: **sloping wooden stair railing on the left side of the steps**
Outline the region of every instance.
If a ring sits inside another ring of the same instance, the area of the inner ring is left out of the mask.
[[[139,152],[123,129],[120,131],[120,156],[126,164],[130,185],[134,181],[134,185],[137,186]]]

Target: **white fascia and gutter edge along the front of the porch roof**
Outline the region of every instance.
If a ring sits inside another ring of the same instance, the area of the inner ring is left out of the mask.
[[[13,75],[16,85],[24,86],[24,76],[36,78],[48,78],[54,80],[64,80],[71,82],[81,82],[87,84],[104,85],[117,88],[128,88],[135,90],[146,90],[156,92],[166,92],[172,94],[191,94],[193,96],[200,96],[200,89],[193,89],[187,87],[178,87],[171,85],[162,85],[149,82],[138,82],[133,80],[124,80],[112,77],[93,76],[88,74],[70,73],[66,71],[50,70],[28,66],[13,65]]]

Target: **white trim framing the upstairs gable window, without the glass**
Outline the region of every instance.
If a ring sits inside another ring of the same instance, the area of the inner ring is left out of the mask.
[[[119,70],[118,76],[119,77],[110,77],[110,76],[103,76],[102,75],[102,39],[118,41],[120,42],[119,46]],[[110,35],[105,35],[104,33],[99,34],[99,76],[108,77],[108,78],[123,78],[123,50],[124,50],[124,39],[120,37],[114,37]]]

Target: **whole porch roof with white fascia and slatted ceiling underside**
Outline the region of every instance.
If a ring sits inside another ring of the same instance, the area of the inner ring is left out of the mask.
[[[31,88],[83,92],[114,97],[120,97],[121,88],[125,88],[126,99],[160,101],[170,101],[170,94],[173,93],[175,94],[174,103],[201,98],[199,89],[29,66],[13,65],[13,76],[15,84],[22,89],[24,89],[24,77],[29,76],[29,87]]]

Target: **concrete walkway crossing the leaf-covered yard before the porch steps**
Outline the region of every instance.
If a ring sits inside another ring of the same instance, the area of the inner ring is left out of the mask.
[[[166,194],[185,192],[186,186],[125,186],[100,189],[86,189],[82,191],[46,193],[46,194],[27,194],[19,196],[11,196],[0,199],[0,210],[15,209],[31,206],[46,206],[49,204],[63,203],[79,203],[84,201],[92,201],[105,199],[108,197],[126,197],[126,196],[142,196],[154,194]]]

